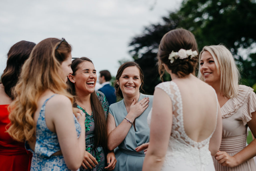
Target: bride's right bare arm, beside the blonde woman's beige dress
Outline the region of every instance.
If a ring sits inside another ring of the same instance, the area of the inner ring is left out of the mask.
[[[221,110],[220,105],[218,105],[218,115],[217,115],[217,125],[209,143],[209,151],[212,156],[215,156],[220,148],[221,137],[222,137],[222,118],[221,118]]]

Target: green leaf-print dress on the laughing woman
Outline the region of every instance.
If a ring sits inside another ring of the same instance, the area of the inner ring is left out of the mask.
[[[100,91],[95,91],[101,105],[103,108],[103,111],[105,113],[105,118],[107,118],[109,113],[109,103],[106,100],[105,95]],[[76,104],[78,109],[81,109],[85,113],[85,141],[86,141],[86,151],[89,152],[93,157],[96,158],[98,165],[96,165],[96,168],[93,169],[84,169],[82,166],[80,166],[81,171],[102,171],[105,170],[104,167],[106,167],[106,152],[105,149],[102,148],[102,146],[98,145],[96,149],[93,149],[94,146],[94,119],[93,119],[93,113],[91,116],[83,109],[81,106]]]

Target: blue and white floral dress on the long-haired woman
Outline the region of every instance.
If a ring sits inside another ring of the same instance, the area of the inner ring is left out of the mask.
[[[54,95],[52,95],[50,98],[52,98]],[[41,107],[41,111],[38,116],[38,120],[36,124],[35,151],[30,149],[27,142],[25,144],[26,149],[33,153],[31,167],[30,167],[31,171],[32,170],[40,170],[40,171],[70,170],[68,169],[64,161],[63,155],[52,156],[52,154],[54,154],[55,152],[60,151],[60,145],[58,142],[57,134],[54,132],[51,132],[46,126],[46,122],[45,122],[45,105],[50,98],[46,99],[46,101]],[[81,126],[78,123],[76,117],[74,115],[73,117],[74,117],[75,127],[77,131],[77,138],[79,138],[81,133]]]

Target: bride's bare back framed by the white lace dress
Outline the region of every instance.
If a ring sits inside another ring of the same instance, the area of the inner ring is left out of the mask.
[[[217,97],[214,89],[196,77],[173,80],[180,91],[185,133],[196,142],[208,138],[215,130]],[[174,115],[177,116],[176,111]]]

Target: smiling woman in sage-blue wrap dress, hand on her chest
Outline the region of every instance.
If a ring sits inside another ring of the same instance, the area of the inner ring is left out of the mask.
[[[153,96],[140,93],[143,73],[135,62],[126,62],[116,74],[116,94],[123,100],[111,104],[107,119],[108,149],[115,149],[114,170],[142,170],[144,152],[135,148],[149,141],[147,115]],[[135,119],[136,118],[136,119]]]

